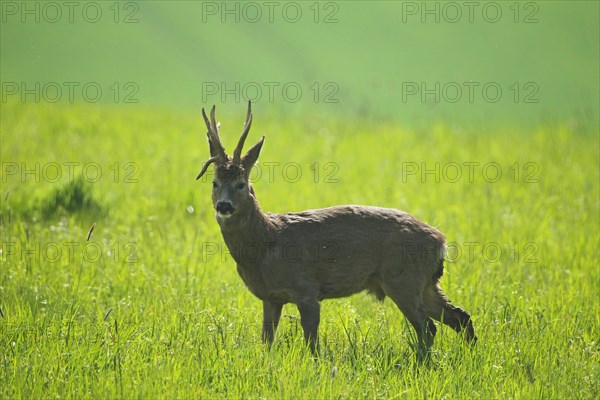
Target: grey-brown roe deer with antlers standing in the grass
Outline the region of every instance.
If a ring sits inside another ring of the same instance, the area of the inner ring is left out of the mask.
[[[215,120],[208,119],[210,159],[215,164],[212,202],[223,239],[248,289],[263,302],[262,340],[273,342],[281,309],[294,303],[304,339],[315,354],[323,299],[363,290],[389,296],[414,327],[418,349],[433,343],[441,321],[470,342],[471,317],[453,306],[439,285],[446,240],[442,233],[395,209],[346,205],[302,212],[263,213],[249,174],[265,137],[242,156],[252,124],[251,104],[233,157],[225,153]]]

